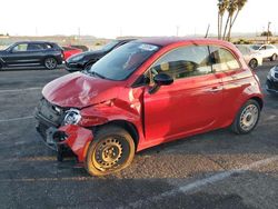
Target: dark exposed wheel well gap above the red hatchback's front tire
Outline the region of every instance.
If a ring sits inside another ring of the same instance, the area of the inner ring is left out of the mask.
[[[127,130],[129,132],[129,135],[132,137],[135,145],[136,145],[136,149],[137,149],[137,146],[139,142],[139,133],[138,133],[138,130],[137,130],[135,125],[132,125],[131,122],[128,122],[126,120],[113,120],[113,121],[110,121],[108,123],[96,127],[95,130],[97,131],[99,128],[102,128],[102,127],[108,126],[108,125],[109,126],[111,126],[111,125],[117,126],[117,127],[120,127],[120,128]]]

